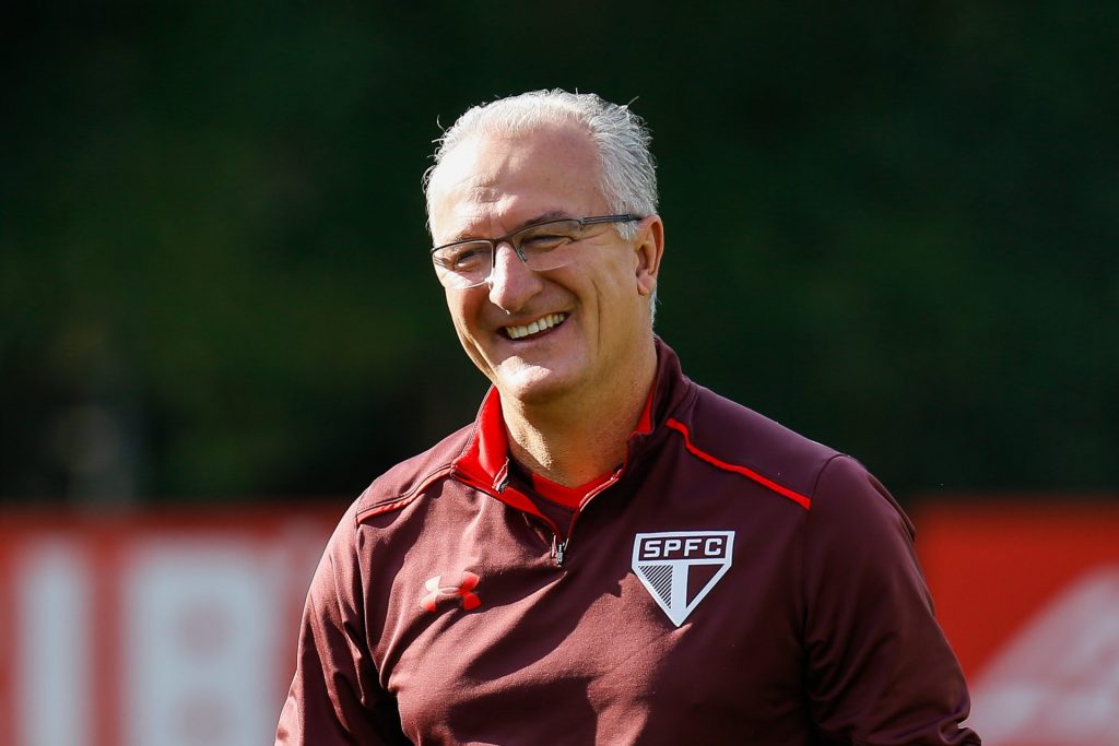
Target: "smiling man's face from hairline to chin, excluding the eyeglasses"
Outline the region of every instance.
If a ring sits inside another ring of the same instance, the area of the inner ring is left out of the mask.
[[[598,183],[598,153],[577,126],[474,136],[444,155],[432,181],[435,244],[608,215]],[[638,234],[627,242],[613,226],[593,226],[571,264],[546,272],[502,244],[488,284],[446,290],[462,347],[505,400],[546,405],[624,385],[634,356],[651,343],[659,218],[641,221]]]

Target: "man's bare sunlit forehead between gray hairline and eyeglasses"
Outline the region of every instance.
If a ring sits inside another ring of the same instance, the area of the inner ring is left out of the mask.
[[[432,176],[432,234],[439,243],[499,235],[542,215],[601,213],[599,176],[598,149],[575,124],[473,135]]]

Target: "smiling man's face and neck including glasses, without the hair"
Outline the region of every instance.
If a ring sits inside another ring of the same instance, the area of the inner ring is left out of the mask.
[[[611,215],[582,128],[466,124],[429,181],[436,273],[462,347],[500,393],[514,457],[582,484],[622,463],[652,384],[660,218],[651,205]]]

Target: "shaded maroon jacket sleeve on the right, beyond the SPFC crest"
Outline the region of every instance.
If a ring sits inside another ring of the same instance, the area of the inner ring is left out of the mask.
[[[933,617],[913,527],[856,461],[824,468],[806,516],[808,706],[822,743],[979,744]]]

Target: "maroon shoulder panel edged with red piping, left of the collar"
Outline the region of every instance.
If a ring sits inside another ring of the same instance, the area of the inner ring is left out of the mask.
[[[423,453],[402,461],[373,480],[355,502],[355,521],[360,522],[370,516],[403,508],[417,498],[424,488],[449,476],[454,460],[466,450],[474,427],[474,424],[470,424],[455,431]]]

